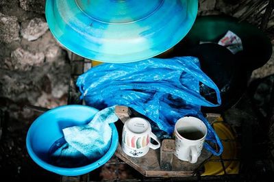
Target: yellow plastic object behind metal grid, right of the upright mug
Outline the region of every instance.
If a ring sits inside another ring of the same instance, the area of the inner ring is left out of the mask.
[[[216,133],[219,135],[221,140],[235,140],[234,133],[225,125],[224,122],[216,122],[213,124],[213,128]],[[223,143],[223,159],[236,159],[238,158],[237,151],[237,142],[232,141],[222,141]],[[210,159],[218,160],[220,159],[217,156],[212,156]],[[225,172],[227,174],[238,174],[240,161],[232,160],[232,161],[224,161]],[[224,174],[223,166],[221,161],[208,161],[205,164],[205,172],[203,172],[203,176],[206,175],[222,175]]]

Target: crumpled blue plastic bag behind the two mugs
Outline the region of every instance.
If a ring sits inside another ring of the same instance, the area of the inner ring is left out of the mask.
[[[215,90],[216,104],[201,96],[200,83]],[[197,57],[101,64],[80,75],[77,86],[87,105],[97,109],[112,105],[132,107],[170,136],[179,118],[196,116],[208,127],[206,140],[217,144],[219,150],[208,143],[204,146],[214,155],[223,152],[221,141],[200,112],[201,106],[219,106],[221,96],[215,83],[199,68]]]

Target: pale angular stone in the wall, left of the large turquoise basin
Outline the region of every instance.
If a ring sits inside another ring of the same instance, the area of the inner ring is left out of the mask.
[[[49,27],[47,23],[42,20],[42,18],[33,18],[31,21],[27,23],[27,26],[24,26],[21,29],[21,35],[23,38],[32,41],[38,39],[40,36],[45,34]]]

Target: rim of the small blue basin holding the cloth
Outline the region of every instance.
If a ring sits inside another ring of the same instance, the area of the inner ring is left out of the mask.
[[[71,107],[71,108],[77,108],[77,109],[86,107],[90,109],[92,114],[95,114],[96,112],[99,111],[98,109],[95,109],[93,107],[89,107],[86,105],[63,105],[63,106],[55,107],[54,109],[50,109],[49,111],[45,112],[42,115],[51,114],[53,111],[55,112],[56,110],[63,109],[64,107]],[[30,135],[34,130],[35,125],[39,125],[40,122],[43,122],[43,120],[40,120],[40,116],[39,116],[38,118],[36,118],[36,120],[34,120],[31,127],[29,127],[29,130],[27,131],[27,138],[26,138],[27,152],[29,153],[29,156],[36,162],[36,164],[38,164],[42,168],[45,168],[46,170],[55,172],[56,174],[60,174],[64,176],[78,176],[78,175],[86,174],[92,170],[95,170],[96,168],[99,168],[100,166],[105,164],[114,155],[116,148],[118,146],[118,141],[119,141],[118,131],[114,123],[110,123],[110,127],[112,128],[112,142],[110,145],[110,149],[108,150],[107,153],[105,153],[105,155],[103,155],[103,157],[101,157],[101,159],[94,161],[92,164],[88,164],[86,166],[81,166],[78,168],[62,168],[58,166],[53,166],[43,161],[42,159],[40,159],[40,157],[38,157],[36,153],[34,153],[34,151],[32,150]]]

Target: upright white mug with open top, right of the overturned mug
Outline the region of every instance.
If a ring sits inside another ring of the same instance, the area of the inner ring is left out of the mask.
[[[175,124],[175,155],[182,161],[194,164],[201,155],[208,129],[202,120],[186,116]]]

